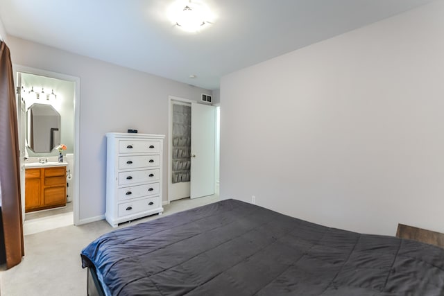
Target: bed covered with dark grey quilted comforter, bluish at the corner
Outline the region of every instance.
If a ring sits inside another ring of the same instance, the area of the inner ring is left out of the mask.
[[[80,256],[89,295],[444,295],[441,247],[239,200],[117,229]]]

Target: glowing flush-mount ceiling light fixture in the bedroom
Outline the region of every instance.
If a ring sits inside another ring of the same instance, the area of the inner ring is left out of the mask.
[[[169,9],[172,21],[185,31],[196,32],[210,22],[211,13],[202,1],[176,1]]]

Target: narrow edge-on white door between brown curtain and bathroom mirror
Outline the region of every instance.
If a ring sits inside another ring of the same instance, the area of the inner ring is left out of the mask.
[[[20,159],[20,195],[22,199],[22,219],[25,220],[25,133],[26,105],[22,99],[22,74],[17,72],[17,125],[19,130],[19,159]]]

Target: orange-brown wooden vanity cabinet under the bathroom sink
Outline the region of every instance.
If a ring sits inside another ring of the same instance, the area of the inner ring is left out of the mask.
[[[64,207],[66,203],[66,166],[26,168],[25,212]]]

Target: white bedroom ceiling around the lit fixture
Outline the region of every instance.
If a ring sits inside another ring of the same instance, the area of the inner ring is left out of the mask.
[[[189,33],[166,16],[173,1],[0,0],[0,18],[8,35],[218,89],[228,73],[432,2],[203,0],[212,24]]]

